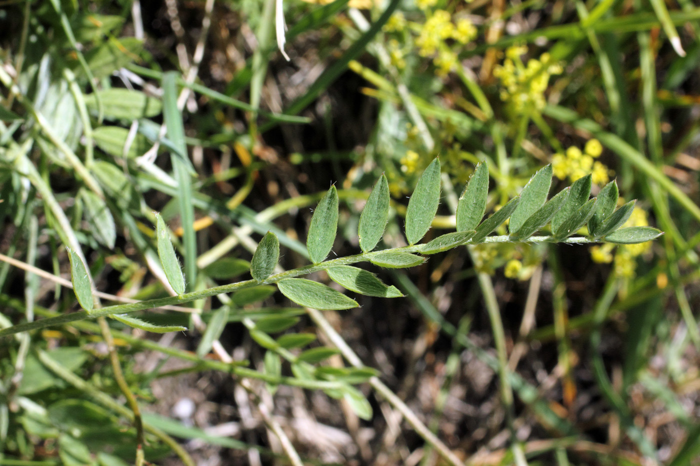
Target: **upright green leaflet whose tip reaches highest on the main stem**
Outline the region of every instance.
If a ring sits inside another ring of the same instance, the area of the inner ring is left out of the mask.
[[[428,232],[440,204],[440,160],[430,162],[406,209],[406,239],[415,244]]]

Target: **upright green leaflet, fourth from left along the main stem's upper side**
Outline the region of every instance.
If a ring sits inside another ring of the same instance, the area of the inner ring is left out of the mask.
[[[323,262],[330,253],[335,241],[335,232],[338,225],[338,192],[335,186],[331,186],[328,192],[321,198],[311,217],[311,226],[307,236],[307,249],[311,262],[318,264]],[[313,307],[313,306],[310,306]]]

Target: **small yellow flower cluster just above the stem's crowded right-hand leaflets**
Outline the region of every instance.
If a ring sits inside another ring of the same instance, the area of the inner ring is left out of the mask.
[[[610,181],[612,170],[595,158],[603,153],[603,146],[597,139],[591,139],[586,143],[583,152],[575,146],[566,149],[566,153],[554,154],[552,157],[552,171],[560,180],[569,178],[576,181],[587,174],[596,185],[604,185]]]

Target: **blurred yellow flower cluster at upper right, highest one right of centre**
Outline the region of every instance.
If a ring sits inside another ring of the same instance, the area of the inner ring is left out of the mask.
[[[500,99],[507,102],[516,115],[528,115],[545,108],[549,78],[563,71],[547,52],[540,55],[540,59],[532,58],[524,64],[520,57],[525,52],[527,48],[523,46],[508,48],[503,65],[493,69],[493,75],[503,85]]]

